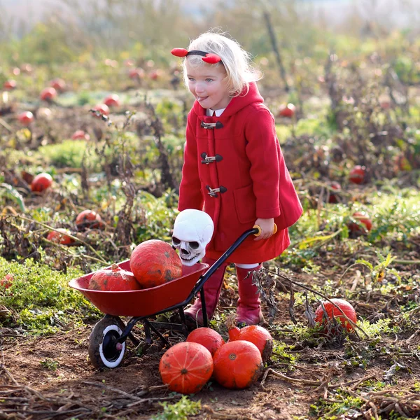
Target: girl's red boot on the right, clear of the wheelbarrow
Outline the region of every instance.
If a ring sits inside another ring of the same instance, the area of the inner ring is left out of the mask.
[[[237,323],[258,325],[264,321],[261,311],[260,293],[253,284],[252,273],[262,267],[237,269],[239,299],[237,303]],[[249,273],[249,275],[248,275]]]

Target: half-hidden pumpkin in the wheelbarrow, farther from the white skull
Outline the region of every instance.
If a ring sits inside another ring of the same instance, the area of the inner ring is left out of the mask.
[[[90,290],[104,290],[108,292],[139,290],[141,286],[133,274],[113,264],[110,268],[99,269],[90,277]]]

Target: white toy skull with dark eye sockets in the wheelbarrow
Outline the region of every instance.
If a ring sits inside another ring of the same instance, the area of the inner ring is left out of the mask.
[[[186,209],[176,216],[172,246],[178,250],[183,265],[194,265],[204,257],[213,231],[213,221],[204,211]]]

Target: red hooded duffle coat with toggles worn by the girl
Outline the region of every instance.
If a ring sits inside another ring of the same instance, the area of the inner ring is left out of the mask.
[[[213,219],[209,258],[219,258],[257,218],[274,218],[275,235],[261,241],[248,237],[228,258],[239,264],[271,260],[289,246],[287,228],[302,214],[274,117],[263,102],[251,83],[220,117],[206,116],[197,101],[188,114],[178,209],[204,210]],[[220,192],[212,191],[217,188]]]

